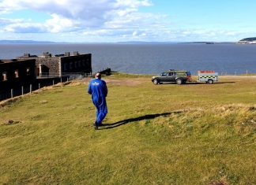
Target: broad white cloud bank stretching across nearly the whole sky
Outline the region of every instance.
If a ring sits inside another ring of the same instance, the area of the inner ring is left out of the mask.
[[[46,33],[53,39],[77,42],[112,41],[197,41],[234,39],[242,33],[235,30],[198,28],[189,19],[180,23],[179,17],[160,13],[139,13],[141,6],[153,6],[151,0],[2,0],[0,2],[0,33]],[[17,10],[31,9],[51,18],[34,23],[36,17],[21,19],[1,18]],[[32,21],[33,20],[33,21]],[[190,27],[189,27],[190,26]],[[24,35],[24,39],[28,38]],[[48,37],[50,38],[50,37]],[[243,37],[242,37],[243,38]],[[47,38],[46,38],[47,39]],[[58,40],[61,41],[61,40]],[[217,41],[217,40],[216,40]]]

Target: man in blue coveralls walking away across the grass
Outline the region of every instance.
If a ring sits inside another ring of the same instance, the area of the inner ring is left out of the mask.
[[[95,79],[91,80],[88,85],[88,94],[92,94],[92,102],[96,106],[96,121],[93,126],[97,130],[102,125],[102,121],[107,115],[107,85],[101,80],[101,74],[96,73]]]

